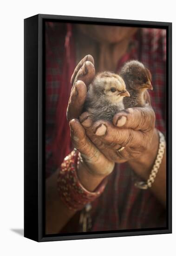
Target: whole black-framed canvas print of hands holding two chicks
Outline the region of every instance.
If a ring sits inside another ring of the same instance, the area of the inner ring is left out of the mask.
[[[171,233],[171,23],[24,25],[25,237]]]

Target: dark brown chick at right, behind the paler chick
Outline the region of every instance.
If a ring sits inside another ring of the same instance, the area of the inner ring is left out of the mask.
[[[125,108],[143,107],[150,103],[150,96],[146,92],[147,89],[153,89],[149,69],[139,61],[129,61],[122,67],[120,76],[130,93],[130,98],[124,98]]]

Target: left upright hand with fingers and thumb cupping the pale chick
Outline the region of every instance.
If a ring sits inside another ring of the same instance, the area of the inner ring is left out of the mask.
[[[91,83],[94,75],[93,58],[91,55],[87,55],[78,63],[72,75],[72,91],[67,107],[67,120],[71,128],[72,143],[82,156],[82,165],[92,175],[103,177],[112,172],[114,162],[108,160],[91,142],[85,133],[85,128],[78,120],[84,106],[87,86]]]

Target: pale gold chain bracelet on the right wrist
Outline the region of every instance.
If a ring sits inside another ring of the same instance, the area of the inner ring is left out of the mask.
[[[164,155],[164,149],[165,149],[165,138],[164,138],[164,135],[160,131],[158,131],[158,133],[159,133],[159,148],[158,148],[158,153],[156,156],[155,164],[151,170],[151,173],[150,173],[150,176],[149,176],[147,182],[136,182],[135,183],[135,186],[138,189],[148,189],[151,187],[152,183],[155,181],[156,174],[157,174],[160,164],[162,162],[163,155]]]

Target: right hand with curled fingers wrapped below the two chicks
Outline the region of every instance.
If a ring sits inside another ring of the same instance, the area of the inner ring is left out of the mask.
[[[118,112],[113,122],[94,123],[88,112],[80,116],[86,134],[111,161],[126,162],[140,157],[151,146],[155,128],[155,113],[149,107],[128,108]],[[123,150],[118,151],[119,148]]]

